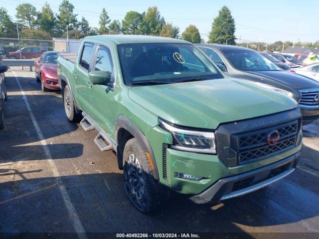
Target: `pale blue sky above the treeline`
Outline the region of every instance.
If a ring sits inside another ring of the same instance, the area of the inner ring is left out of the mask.
[[[58,12],[62,0],[48,1]],[[126,12],[147,11],[158,6],[166,22],[178,26],[182,33],[189,24],[195,25],[205,40],[214,17],[223,5],[231,10],[235,19],[235,36],[241,41],[277,40],[315,42],[319,40],[319,0],[69,0],[80,19],[84,16],[93,27],[99,26],[99,14],[105,7],[112,20],[124,18]],[[16,6],[28,2],[40,10],[45,0],[0,0],[0,6],[15,19]],[[296,22],[297,31],[295,36]]]

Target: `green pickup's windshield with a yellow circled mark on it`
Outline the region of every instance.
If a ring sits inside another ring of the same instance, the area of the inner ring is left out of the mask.
[[[211,61],[187,43],[134,43],[118,46],[126,85],[223,78]]]

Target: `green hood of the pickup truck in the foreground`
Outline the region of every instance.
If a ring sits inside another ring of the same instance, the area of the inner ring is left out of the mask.
[[[162,119],[210,129],[297,107],[281,93],[233,78],[131,87],[129,97]]]

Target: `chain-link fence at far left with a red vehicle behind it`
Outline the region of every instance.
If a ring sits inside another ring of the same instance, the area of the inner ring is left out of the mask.
[[[45,51],[52,51],[53,41],[0,37],[0,50],[5,59],[35,59]]]

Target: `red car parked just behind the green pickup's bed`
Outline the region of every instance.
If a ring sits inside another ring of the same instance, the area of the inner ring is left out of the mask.
[[[61,89],[56,71],[56,59],[59,53],[47,51],[34,61],[35,78],[37,82],[41,82],[42,91]]]

